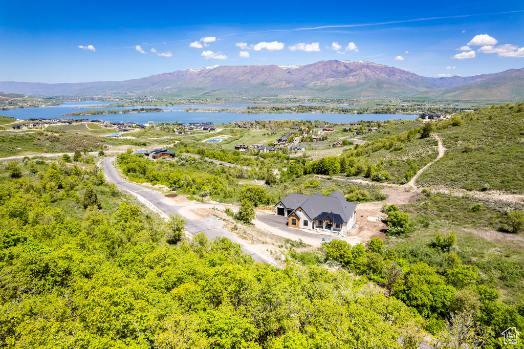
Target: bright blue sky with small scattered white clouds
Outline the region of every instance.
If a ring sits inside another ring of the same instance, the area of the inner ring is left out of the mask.
[[[127,80],[215,64],[331,59],[426,77],[524,67],[522,0],[0,0],[0,9],[0,81]]]

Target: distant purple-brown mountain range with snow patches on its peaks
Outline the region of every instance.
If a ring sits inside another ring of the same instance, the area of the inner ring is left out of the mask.
[[[472,77],[426,78],[367,61],[320,61],[304,66],[213,66],[126,81],[0,82],[0,91],[34,96],[163,95],[171,97],[434,97],[524,100],[524,68]]]

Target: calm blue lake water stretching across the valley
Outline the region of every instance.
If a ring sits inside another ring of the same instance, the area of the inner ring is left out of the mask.
[[[61,114],[74,113],[93,110],[93,108],[73,108],[73,107],[85,107],[91,105],[104,105],[111,104],[105,102],[71,102],[64,103],[58,106],[52,107],[39,107],[39,108],[21,108],[10,111],[0,112],[0,115],[16,117],[17,119],[28,119],[28,118],[61,118]],[[115,103],[113,103],[115,104]],[[238,114],[238,113],[206,113],[206,112],[184,112],[185,108],[246,108],[248,106],[254,106],[259,104],[208,104],[208,105],[173,105],[173,106],[146,106],[144,108],[162,108],[163,112],[150,112],[150,113],[129,113],[129,114],[104,114],[104,115],[91,115],[91,116],[77,116],[74,118],[89,118],[89,119],[102,119],[103,121],[111,122],[138,122],[141,124],[147,124],[148,121],[154,123],[163,122],[181,122],[181,123],[193,123],[193,122],[213,122],[215,124],[230,123],[233,121],[245,121],[245,120],[282,120],[282,119],[294,119],[294,120],[311,120],[311,121],[325,121],[332,123],[349,123],[361,120],[366,121],[387,121],[388,119],[416,119],[418,115],[407,115],[407,114],[322,114],[322,113],[289,113],[289,114]],[[139,107],[125,107],[126,109],[139,108]],[[114,108],[96,108],[96,109],[118,109],[122,110],[122,107]],[[169,111],[171,109],[171,111]],[[62,116],[63,117],[63,116]]]

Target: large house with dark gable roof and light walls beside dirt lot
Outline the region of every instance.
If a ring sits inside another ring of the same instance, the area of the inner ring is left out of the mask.
[[[292,228],[347,233],[355,225],[356,208],[338,190],[328,196],[290,193],[275,205],[275,214],[288,217]]]

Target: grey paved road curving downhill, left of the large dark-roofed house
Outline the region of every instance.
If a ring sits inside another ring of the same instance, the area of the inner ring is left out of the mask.
[[[145,199],[163,214],[180,214],[180,206],[171,199],[166,198],[165,195],[159,193],[156,190],[143,188],[138,186],[138,184],[126,182],[122,176],[118,174],[115,167],[113,166],[114,159],[115,157],[110,157],[102,160],[102,168],[108,181],[115,183],[118,188],[124,189],[125,191],[130,192],[137,197]],[[185,229],[193,235],[204,232],[210,240],[214,240],[216,237],[227,237],[234,243],[239,244],[242,248],[242,252],[252,256],[255,261],[270,263],[269,261],[257,255],[254,250],[250,248],[250,246],[242,239],[238,238],[231,232],[226,231],[225,229],[216,228],[202,220],[186,219],[186,222]]]

